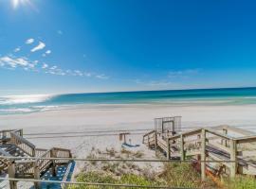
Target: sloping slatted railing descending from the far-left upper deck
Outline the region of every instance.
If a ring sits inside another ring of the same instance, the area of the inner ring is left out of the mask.
[[[22,149],[27,155],[31,157],[35,157],[35,146],[28,142],[25,138],[18,135],[16,132],[9,132],[10,133],[10,143],[18,146]]]

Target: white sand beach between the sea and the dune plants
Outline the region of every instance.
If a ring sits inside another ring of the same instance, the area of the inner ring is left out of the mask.
[[[119,146],[119,136],[102,136],[92,130],[154,129],[154,118],[182,116],[183,128],[231,125],[256,131],[256,105],[243,106],[165,106],[165,105],[82,105],[76,109],[28,114],[1,115],[1,129],[24,129],[24,133],[66,132],[61,135],[97,135],[83,137],[34,138],[26,135],[37,147],[59,146],[72,150],[76,157],[85,157],[92,146]],[[81,133],[68,133],[81,132]],[[87,133],[86,133],[87,132]],[[138,132],[138,131],[137,131]],[[143,131],[139,131],[143,133]],[[144,131],[146,132],[146,131]],[[110,132],[113,133],[113,132]],[[119,132],[115,132],[118,134]],[[109,134],[109,133],[107,133]],[[42,135],[39,135],[42,137]],[[44,136],[43,136],[44,137]],[[131,135],[132,143],[141,143],[141,135]]]

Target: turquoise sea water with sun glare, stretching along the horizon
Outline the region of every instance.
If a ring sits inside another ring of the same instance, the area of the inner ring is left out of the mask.
[[[0,96],[0,114],[50,111],[86,104],[249,105],[256,104],[256,88]]]

